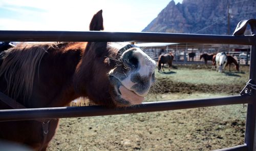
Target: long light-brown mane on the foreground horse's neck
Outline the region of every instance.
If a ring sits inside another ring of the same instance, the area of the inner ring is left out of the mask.
[[[0,67],[0,77],[7,82],[7,95],[14,100],[19,98],[25,104],[30,99],[36,69],[38,70],[42,57],[49,48],[56,47],[56,43],[19,44],[5,51],[3,63]]]

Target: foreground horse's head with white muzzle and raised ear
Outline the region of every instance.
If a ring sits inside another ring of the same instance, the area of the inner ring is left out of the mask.
[[[103,30],[102,10],[90,30]],[[140,104],[154,83],[156,62],[126,42],[88,42],[74,76],[75,90],[97,104]]]

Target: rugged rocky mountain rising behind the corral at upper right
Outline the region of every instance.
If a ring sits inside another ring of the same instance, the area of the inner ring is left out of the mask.
[[[171,1],[142,31],[165,33],[232,34],[239,21],[256,18],[255,0]]]

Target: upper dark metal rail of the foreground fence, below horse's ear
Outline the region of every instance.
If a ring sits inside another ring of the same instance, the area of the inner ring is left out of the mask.
[[[149,33],[149,32],[102,32],[102,31],[1,31],[0,41],[138,41],[179,42],[198,44],[253,45],[255,36]]]

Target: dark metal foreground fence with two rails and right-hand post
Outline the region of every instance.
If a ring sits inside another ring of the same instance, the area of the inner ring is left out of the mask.
[[[247,24],[251,35],[244,35]],[[241,21],[233,35],[203,35],[175,33],[125,33],[125,32],[68,32],[68,31],[0,31],[0,41],[140,41],[140,42],[194,42],[199,44],[250,45],[249,81],[240,95],[177,101],[146,102],[125,109],[106,109],[103,106],[52,107],[38,109],[0,110],[0,121],[89,117],[117,114],[144,113],[190,109],[195,107],[248,104],[246,132],[243,145],[220,150],[256,150],[256,19]],[[4,99],[0,95],[0,99]]]

